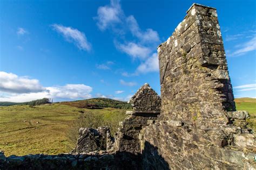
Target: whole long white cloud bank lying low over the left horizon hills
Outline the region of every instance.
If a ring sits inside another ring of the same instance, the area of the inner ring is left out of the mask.
[[[12,73],[0,72],[0,101],[27,102],[40,98],[85,99],[91,98],[92,87],[85,84],[43,87],[38,80]]]

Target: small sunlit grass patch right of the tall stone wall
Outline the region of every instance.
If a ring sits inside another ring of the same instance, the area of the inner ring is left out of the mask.
[[[235,106],[237,110],[246,110],[250,114],[249,128],[253,129],[256,132],[256,98],[236,98]]]

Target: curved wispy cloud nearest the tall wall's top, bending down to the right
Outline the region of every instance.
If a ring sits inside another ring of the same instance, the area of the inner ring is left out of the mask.
[[[157,31],[154,31],[152,29],[147,29],[145,32],[142,32],[142,30],[140,30],[139,28],[137,20],[133,16],[127,17],[126,22],[133,36],[136,36],[142,42],[145,42],[145,43],[159,42],[159,36]]]

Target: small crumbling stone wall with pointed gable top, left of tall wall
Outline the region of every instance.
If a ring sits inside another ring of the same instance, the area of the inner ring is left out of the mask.
[[[145,83],[129,102],[133,111],[126,111],[129,116],[120,122],[114,146],[120,152],[139,154],[143,137],[141,130],[157,119],[160,114],[161,99],[156,91]]]

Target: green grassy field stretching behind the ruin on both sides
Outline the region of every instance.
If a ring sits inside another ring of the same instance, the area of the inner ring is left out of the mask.
[[[237,110],[249,111],[250,128],[256,131],[256,99],[238,98],[235,102]],[[112,132],[125,118],[121,109],[86,109],[61,103],[0,107],[0,150],[5,155],[70,152],[73,145],[68,136],[70,132],[74,133],[70,130],[85,114],[93,115],[95,126],[112,126]]]

